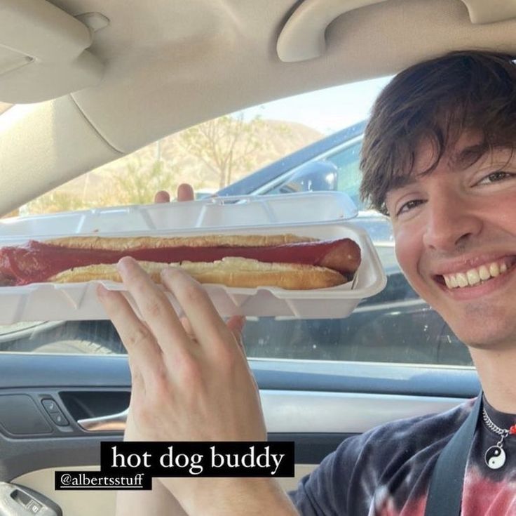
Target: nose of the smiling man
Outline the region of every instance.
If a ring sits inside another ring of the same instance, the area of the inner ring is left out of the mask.
[[[482,230],[474,206],[460,196],[441,194],[427,201],[423,243],[431,249],[454,251]]]

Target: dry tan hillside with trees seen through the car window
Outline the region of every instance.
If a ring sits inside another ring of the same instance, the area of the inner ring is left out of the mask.
[[[190,183],[198,199],[322,138],[320,131],[233,113],[162,138],[95,168],[19,209],[20,216],[149,204],[158,190]]]

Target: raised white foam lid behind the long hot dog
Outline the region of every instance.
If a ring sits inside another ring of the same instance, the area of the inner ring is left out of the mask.
[[[344,192],[210,197],[200,201],[95,208],[0,220],[0,240],[74,234],[158,232],[160,230],[276,224],[332,223],[357,215]]]

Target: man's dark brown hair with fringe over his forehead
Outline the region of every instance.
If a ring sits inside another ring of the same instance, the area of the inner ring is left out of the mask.
[[[516,147],[516,64],[503,53],[457,51],[396,75],[365,129],[360,196],[387,213],[386,194],[409,175],[421,140],[434,148],[431,173],[463,131],[482,136],[466,166],[493,147]]]

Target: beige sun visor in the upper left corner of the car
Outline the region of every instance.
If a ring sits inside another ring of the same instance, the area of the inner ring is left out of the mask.
[[[93,31],[45,0],[0,0],[0,101],[60,97],[102,79]]]

